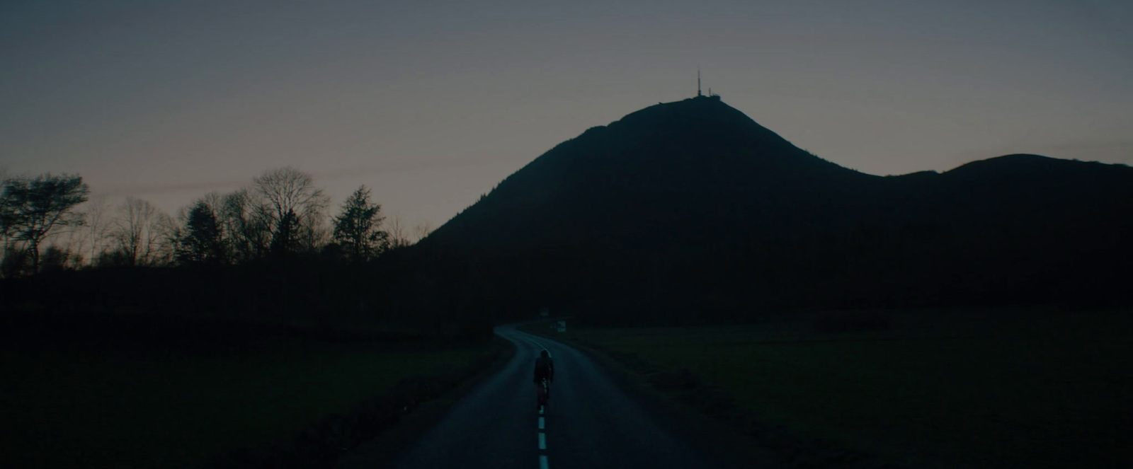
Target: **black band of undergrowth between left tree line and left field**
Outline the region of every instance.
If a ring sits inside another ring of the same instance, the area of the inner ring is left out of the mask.
[[[94,270],[51,271],[0,282],[0,316],[50,312],[48,318],[60,327],[70,327],[74,321],[68,318],[75,317],[114,321],[142,315],[222,318],[269,330],[283,326],[383,340],[389,339],[387,331],[449,343],[492,336],[486,313],[415,308],[427,305],[410,296],[435,291],[407,287],[416,274],[414,261],[401,250],[369,263],[293,253],[238,265],[137,267],[113,255],[100,263],[103,266]]]

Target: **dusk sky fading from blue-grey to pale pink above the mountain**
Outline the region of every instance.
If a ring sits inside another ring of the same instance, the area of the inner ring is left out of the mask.
[[[169,213],[264,170],[434,228],[704,87],[875,174],[1133,164],[1133,2],[3,1],[0,169]]]

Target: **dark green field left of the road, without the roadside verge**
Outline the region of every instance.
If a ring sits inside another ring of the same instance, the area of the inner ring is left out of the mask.
[[[244,350],[0,350],[6,467],[165,468],[289,438],[487,349],[278,341]]]

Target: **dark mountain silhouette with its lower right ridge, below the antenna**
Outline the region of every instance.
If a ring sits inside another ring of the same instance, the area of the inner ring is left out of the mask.
[[[698,96],[559,144],[416,255],[446,279],[431,288],[497,317],[540,306],[632,324],[1107,306],[1130,300],[1131,214],[1128,167],[1007,155],[878,177]]]

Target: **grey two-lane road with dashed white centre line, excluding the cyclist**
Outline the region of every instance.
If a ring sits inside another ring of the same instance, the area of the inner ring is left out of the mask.
[[[687,443],[679,435],[689,428],[662,418],[656,409],[647,410],[587,355],[511,326],[497,327],[496,333],[516,343],[516,356],[407,445],[392,467],[733,467]],[[554,358],[555,382],[551,401],[540,410],[531,376],[544,348]]]

